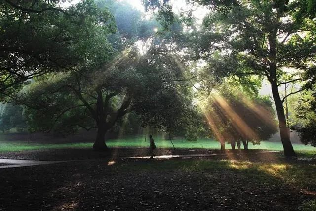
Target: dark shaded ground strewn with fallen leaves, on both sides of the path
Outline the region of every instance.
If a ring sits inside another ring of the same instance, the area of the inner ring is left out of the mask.
[[[281,152],[146,148],[34,150],[1,158],[73,160],[0,169],[0,210],[313,210],[315,160]],[[83,159],[83,160],[80,160]],[[88,159],[88,160],[86,160]]]

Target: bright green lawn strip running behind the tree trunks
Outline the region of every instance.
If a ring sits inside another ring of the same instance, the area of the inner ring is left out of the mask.
[[[155,138],[157,147],[172,148],[172,144],[168,140]],[[199,139],[198,141],[190,142],[186,140],[173,140],[176,148],[204,148],[204,149],[219,149],[220,145],[217,141],[211,139]],[[61,149],[61,148],[91,148],[93,143],[63,143],[63,144],[45,144],[45,143],[28,143],[26,141],[6,141],[0,139],[0,152],[12,152],[23,150],[37,149]],[[149,140],[141,138],[125,138],[107,140],[109,147],[148,147]],[[315,154],[316,148],[305,146],[303,144],[293,144],[295,150],[304,151],[307,154]],[[230,149],[230,145],[226,144],[226,148]],[[265,149],[265,150],[283,150],[281,142],[262,141],[260,145],[249,144],[249,149]]]

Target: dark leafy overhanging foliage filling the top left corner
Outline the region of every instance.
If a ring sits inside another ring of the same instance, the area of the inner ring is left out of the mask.
[[[93,0],[61,8],[63,0],[0,2],[0,93],[45,73],[74,70],[85,61],[82,41],[115,31],[108,10]],[[75,70],[76,71],[76,70]]]

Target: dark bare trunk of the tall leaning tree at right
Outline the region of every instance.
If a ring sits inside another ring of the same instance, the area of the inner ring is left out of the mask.
[[[292,143],[290,141],[290,133],[289,129],[286,126],[286,119],[285,119],[285,114],[284,114],[284,109],[283,109],[283,103],[281,101],[279,92],[278,92],[278,87],[276,84],[276,80],[271,81],[271,90],[272,90],[272,95],[273,99],[275,101],[276,105],[276,113],[277,113],[277,119],[278,119],[278,124],[279,124],[279,129],[280,129],[280,136],[281,136],[281,141],[284,149],[284,155],[285,156],[296,156]]]

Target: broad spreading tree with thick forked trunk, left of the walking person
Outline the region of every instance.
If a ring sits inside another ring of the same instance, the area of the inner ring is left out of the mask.
[[[162,103],[180,99],[174,79],[182,76],[182,69],[174,56],[160,50],[161,42],[154,42],[153,33],[141,31],[139,38],[146,33],[151,38],[147,53],[140,55],[131,42],[124,42],[137,30],[119,27],[112,36],[105,34],[106,27],[107,22],[93,25],[89,30],[94,36],[73,46],[80,59],[69,71],[37,76],[18,96],[11,96],[28,107],[32,130],[73,133],[79,127],[97,128],[93,148],[105,150],[105,133],[125,114],[147,112],[144,122],[161,115]]]

